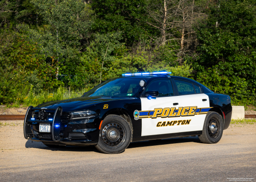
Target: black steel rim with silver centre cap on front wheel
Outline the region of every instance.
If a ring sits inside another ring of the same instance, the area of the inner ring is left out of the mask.
[[[101,132],[101,138],[106,145],[117,146],[124,141],[125,131],[118,123],[106,124]]]

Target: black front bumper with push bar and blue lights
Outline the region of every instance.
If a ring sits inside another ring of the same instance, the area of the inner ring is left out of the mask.
[[[31,119],[34,111],[54,111],[52,120]],[[56,109],[33,108],[30,106],[24,119],[24,137],[25,139],[36,142],[51,142],[66,145],[83,144],[95,145],[99,138],[99,117],[83,120],[61,120],[62,108]],[[39,132],[40,123],[49,123],[51,126],[50,133]]]

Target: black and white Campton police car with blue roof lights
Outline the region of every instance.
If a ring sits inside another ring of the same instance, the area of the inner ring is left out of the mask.
[[[95,145],[103,153],[174,137],[219,142],[231,121],[230,97],[169,73],[126,73],[81,97],[31,106],[24,137],[49,147]]]

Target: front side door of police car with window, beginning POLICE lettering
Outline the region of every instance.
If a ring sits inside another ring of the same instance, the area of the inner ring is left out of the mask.
[[[159,96],[156,99],[148,99],[142,96],[139,118],[142,119],[141,136],[161,135],[178,133],[179,125],[176,117],[170,116],[179,107],[179,96],[174,94],[174,89],[170,79],[160,79],[152,81],[145,91],[157,90]],[[143,94],[144,94],[143,93]],[[173,108],[173,109],[172,109]]]

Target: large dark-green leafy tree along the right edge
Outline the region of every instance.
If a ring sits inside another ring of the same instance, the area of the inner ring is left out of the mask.
[[[207,19],[197,30],[200,45],[193,67],[198,71],[198,80],[207,80],[207,86],[219,84],[219,90],[230,95],[236,94],[234,87],[240,87],[238,90],[255,98],[255,5],[255,1],[250,0],[220,1],[220,6],[209,8]],[[208,76],[217,77],[216,80],[205,79]],[[245,84],[238,84],[244,81]]]

